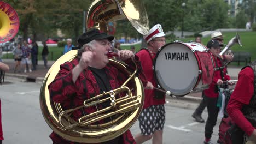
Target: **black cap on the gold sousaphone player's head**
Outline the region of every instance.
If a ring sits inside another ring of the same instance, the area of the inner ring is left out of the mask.
[[[83,33],[78,37],[78,43],[79,44],[87,44],[92,40],[97,39],[108,39],[108,41],[112,41],[114,39],[113,35],[108,35],[107,33],[104,33],[98,29],[92,29],[88,32]]]

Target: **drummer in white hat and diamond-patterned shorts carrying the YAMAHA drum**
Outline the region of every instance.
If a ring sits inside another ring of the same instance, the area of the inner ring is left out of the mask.
[[[142,68],[148,79],[145,89],[144,106],[139,116],[139,128],[141,134],[136,135],[137,144],[150,140],[153,137],[154,143],[162,143],[162,130],[165,124],[165,94],[153,90],[156,87],[156,80],[153,73],[153,61],[162,46],[165,45],[165,33],[160,24],[155,25],[149,30],[144,39],[147,42],[147,48],[142,49],[136,55],[141,60]]]

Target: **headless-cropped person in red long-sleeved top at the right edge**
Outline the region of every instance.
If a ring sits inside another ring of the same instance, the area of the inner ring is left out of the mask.
[[[252,62],[250,66],[242,68],[227,107],[231,119],[250,136],[249,140],[253,143],[256,143],[255,65],[256,61]]]

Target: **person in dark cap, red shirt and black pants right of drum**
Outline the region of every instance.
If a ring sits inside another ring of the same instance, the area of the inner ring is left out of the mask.
[[[207,43],[207,47],[210,49],[216,63],[216,70],[214,71],[214,77],[209,88],[203,91],[203,98],[206,102],[208,111],[208,118],[205,124],[205,144],[211,143],[211,137],[213,133],[213,127],[216,125],[219,107],[217,107],[217,101],[219,97],[218,86],[223,84],[223,81],[231,80],[230,76],[226,74],[226,67],[223,67],[221,59],[218,57],[220,53],[220,46],[217,40],[210,40]],[[231,83],[230,83],[231,84]]]

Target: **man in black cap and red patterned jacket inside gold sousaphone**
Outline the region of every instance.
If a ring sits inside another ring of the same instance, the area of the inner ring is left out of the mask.
[[[109,92],[111,89],[119,88],[127,79],[122,71],[119,71],[113,65],[108,64],[107,54],[112,48],[110,41],[114,39],[113,35],[108,35],[98,29],[93,29],[79,36],[78,57],[71,62],[60,65],[59,73],[53,82],[48,86],[50,97],[55,103],[60,103],[64,110],[78,107],[84,104],[86,99],[90,99],[103,92]],[[129,50],[121,50],[117,53],[118,58],[129,65],[129,68],[135,69],[132,59],[134,59],[138,71],[137,75],[141,79],[143,86],[147,85],[146,76],[143,73],[139,58]],[[74,111],[71,118],[77,121],[84,116],[83,113],[92,113],[110,106],[110,99],[104,103],[78,109]],[[107,119],[95,122],[102,124]],[[77,143],[66,140],[65,137],[57,135],[54,131],[50,138],[53,143]],[[86,141],[85,141],[86,142]],[[130,130],[116,137],[113,140],[102,142],[110,143],[135,143]]]

